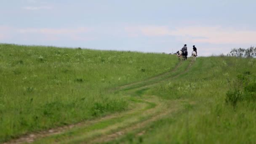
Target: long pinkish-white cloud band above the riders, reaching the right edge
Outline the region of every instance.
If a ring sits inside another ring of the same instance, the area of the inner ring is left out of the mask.
[[[256,31],[239,30],[224,27],[169,27],[146,26],[126,27],[128,35],[144,35],[148,37],[176,36],[193,43],[212,44],[251,44],[256,42]]]

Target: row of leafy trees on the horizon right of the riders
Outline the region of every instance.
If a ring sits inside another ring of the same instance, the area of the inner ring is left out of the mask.
[[[256,47],[251,46],[250,48],[233,48],[227,56],[236,56],[244,58],[255,58]]]

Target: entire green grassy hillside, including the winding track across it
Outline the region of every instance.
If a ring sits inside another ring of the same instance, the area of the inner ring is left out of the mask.
[[[255,59],[0,44],[0,73],[0,143],[256,142]]]

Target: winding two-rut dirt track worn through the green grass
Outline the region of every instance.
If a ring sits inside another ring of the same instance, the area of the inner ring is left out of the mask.
[[[172,78],[179,77],[179,75],[185,74],[189,70],[189,68],[192,66],[192,64],[193,62],[190,62],[186,70],[184,70],[183,72],[176,75],[171,75],[173,72],[179,69],[181,65],[181,62],[180,62],[170,72],[166,72],[164,74],[151,77],[144,81],[130,83],[128,85],[117,87],[115,88],[114,91],[122,91],[123,89],[128,89],[126,91],[134,92],[144,88],[149,88],[153,85],[157,85],[162,81],[170,80]],[[130,131],[141,129],[145,127],[145,125],[152,123],[153,121],[159,120],[165,115],[171,114],[172,112],[175,112],[181,109],[182,108],[181,104],[184,103],[184,100],[183,101],[182,100],[163,101],[157,96],[143,96],[142,98],[138,98],[138,99],[140,99],[141,102],[136,103],[134,105],[134,108],[129,111],[107,115],[105,117],[101,117],[95,120],[87,120],[85,122],[81,122],[73,125],[67,125],[67,126],[63,126],[55,129],[50,129],[47,131],[30,133],[30,134],[21,136],[18,139],[13,139],[5,144],[21,144],[21,143],[48,141],[47,139],[49,137],[62,136],[62,135],[65,135],[66,133],[69,133],[70,131],[75,132],[74,136],[72,136],[70,139],[64,138],[64,139],[58,139],[57,141],[50,140],[50,142],[54,142],[54,143],[107,142],[107,141],[117,139],[118,137],[123,136]],[[88,129],[90,129],[90,127],[93,125],[107,123],[108,121],[111,121],[111,120],[113,121],[119,120],[119,121],[117,123],[107,125],[104,128],[92,129],[88,131]],[[138,133],[138,135],[142,135],[144,133],[145,131],[141,131]]]

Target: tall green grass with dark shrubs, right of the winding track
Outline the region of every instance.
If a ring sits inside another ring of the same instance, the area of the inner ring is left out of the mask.
[[[255,75],[256,59],[198,58],[186,74],[145,92],[164,99],[188,99],[190,104],[184,105],[184,111],[149,125],[133,142],[255,143]],[[242,99],[235,107],[232,99],[228,100],[229,95],[235,97],[230,91],[241,92]]]

